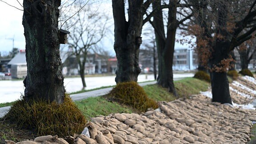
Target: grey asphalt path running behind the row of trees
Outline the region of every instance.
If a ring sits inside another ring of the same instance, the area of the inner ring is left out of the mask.
[[[183,78],[176,78],[173,80],[180,80],[180,79],[183,79]],[[150,84],[156,84],[156,81],[139,83],[139,85],[142,87],[145,85],[150,85]],[[83,100],[83,99],[87,99],[88,97],[103,96],[103,95],[107,94],[108,92],[110,92],[111,90],[112,90],[112,88],[102,88],[102,89],[98,89],[98,90],[94,90],[94,91],[90,91],[90,92],[73,94],[73,95],[70,95],[70,97],[74,101]],[[10,108],[11,108],[10,106],[0,108],[0,118],[3,117],[8,112],[8,110]]]

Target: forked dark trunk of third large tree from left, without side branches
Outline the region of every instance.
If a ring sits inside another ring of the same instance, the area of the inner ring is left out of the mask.
[[[153,9],[160,7],[160,0],[156,0],[152,3]],[[173,83],[173,72],[172,72],[172,63],[173,63],[173,53],[174,53],[174,44],[177,28],[176,20],[176,0],[171,1],[170,5],[172,8],[169,8],[168,12],[168,28],[167,28],[167,37],[165,38],[164,33],[164,22],[163,22],[163,13],[158,11],[155,13],[154,20],[152,24],[154,25],[155,35],[156,35],[156,46],[158,52],[158,77],[157,84],[163,88],[168,88],[169,92],[173,93],[174,96],[177,96],[176,89]]]

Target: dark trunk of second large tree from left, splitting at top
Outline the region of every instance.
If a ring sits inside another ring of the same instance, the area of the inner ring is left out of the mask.
[[[128,22],[125,19],[124,0],[112,0],[115,23],[114,49],[117,58],[116,83],[137,81],[140,74],[139,49],[143,25],[143,0],[128,0]]]

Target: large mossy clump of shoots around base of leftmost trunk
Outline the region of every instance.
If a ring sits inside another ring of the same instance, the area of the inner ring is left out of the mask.
[[[33,129],[38,135],[72,136],[83,131],[87,120],[69,96],[63,104],[45,101],[16,101],[4,117],[20,128]]]

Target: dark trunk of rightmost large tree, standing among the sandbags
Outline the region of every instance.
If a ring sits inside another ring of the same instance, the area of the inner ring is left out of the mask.
[[[209,60],[210,68],[212,70],[212,72],[210,72],[212,101],[220,102],[221,104],[232,104],[229,93],[227,70],[225,67],[223,67],[223,64],[221,64],[221,60],[228,59],[228,54],[230,53],[231,47],[231,42],[228,40],[229,35],[226,29],[228,20],[228,6],[219,3],[218,8],[216,35],[220,36],[220,38],[216,38],[212,46],[212,58]]]

